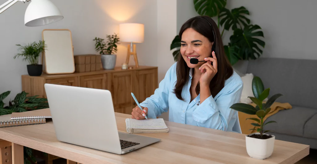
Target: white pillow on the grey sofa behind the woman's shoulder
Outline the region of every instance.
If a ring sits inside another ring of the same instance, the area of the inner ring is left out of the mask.
[[[248,98],[254,97],[253,92],[252,92],[252,80],[253,80],[253,74],[245,74],[244,76],[241,77],[242,82],[243,82],[243,90],[242,90],[242,95],[241,95],[241,100],[240,102],[249,104],[252,101]]]

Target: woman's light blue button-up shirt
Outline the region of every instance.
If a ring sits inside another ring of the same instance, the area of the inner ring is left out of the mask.
[[[223,89],[214,98],[211,95],[203,103],[199,103],[200,94],[191,101],[189,90],[191,88],[192,69],[190,69],[189,80],[182,90],[182,97],[184,98],[184,101],[182,101],[173,93],[177,81],[176,63],[168,69],[165,78],[159,83],[159,88],[155,90],[154,94],[140,103],[141,106],[148,108],[147,117],[156,118],[169,110],[169,121],[172,122],[233,131],[232,128],[236,123],[238,113],[230,106],[240,102],[243,89],[241,77],[234,72],[225,81]]]

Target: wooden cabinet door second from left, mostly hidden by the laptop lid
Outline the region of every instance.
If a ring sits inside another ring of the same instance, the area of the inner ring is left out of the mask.
[[[80,77],[80,87],[106,89],[107,74],[103,75],[87,75]]]

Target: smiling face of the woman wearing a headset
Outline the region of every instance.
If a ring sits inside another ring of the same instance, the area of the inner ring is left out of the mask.
[[[211,56],[211,47],[213,42],[210,42],[207,37],[201,35],[192,28],[186,29],[182,34],[180,53],[182,54],[189,68],[197,69],[205,62],[191,64],[191,58],[197,58],[203,61],[204,58]]]

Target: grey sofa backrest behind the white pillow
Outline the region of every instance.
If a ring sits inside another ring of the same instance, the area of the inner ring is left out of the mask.
[[[294,106],[316,108],[317,60],[258,58],[249,60],[247,73],[262,79],[264,88],[270,88],[270,96],[282,94],[278,102]]]

